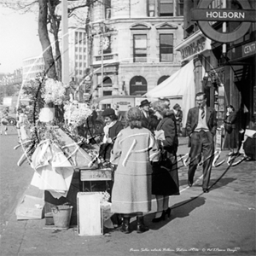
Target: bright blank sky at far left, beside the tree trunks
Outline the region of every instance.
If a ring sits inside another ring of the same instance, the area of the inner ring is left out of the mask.
[[[36,15],[20,15],[18,11],[1,7],[0,73],[13,73],[22,67],[23,59],[41,53]]]

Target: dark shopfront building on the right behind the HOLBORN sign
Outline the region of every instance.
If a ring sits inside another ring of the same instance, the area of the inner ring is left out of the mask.
[[[242,10],[241,1],[213,0],[209,9]],[[250,9],[256,9],[255,1],[247,1]],[[255,22],[241,38],[227,44],[218,38],[209,39],[201,32],[198,22],[192,20],[191,9],[198,9],[200,1],[184,1],[184,39],[177,45],[182,64],[194,61],[195,92],[207,94],[207,105],[218,112],[218,124],[223,124],[226,106],[232,105],[237,111],[237,131],[252,128],[256,117],[255,87]],[[224,7],[225,5],[225,7]],[[215,12],[218,14],[218,11]],[[242,21],[242,20],[241,20]],[[243,22],[225,22],[221,16],[209,24],[216,32],[238,33]]]

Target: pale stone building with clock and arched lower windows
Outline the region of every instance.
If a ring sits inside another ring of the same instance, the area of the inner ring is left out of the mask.
[[[93,96],[143,96],[180,68],[183,1],[108,0],[89,19]]]

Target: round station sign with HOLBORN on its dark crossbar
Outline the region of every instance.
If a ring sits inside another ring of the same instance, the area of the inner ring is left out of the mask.
[[[198,26],[207,38],[220,43],[231,43],[243,37],[256,21],[256,12],[251,9],[247,0],[238,0],[242,9],[209,9],[212,0],[201,0],[198,9],[192,9],[192,19],[196,20]],[[241,25],[233,32],[216,31],[209,21],[239,21]]]

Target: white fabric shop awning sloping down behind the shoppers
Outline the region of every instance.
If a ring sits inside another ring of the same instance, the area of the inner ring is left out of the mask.
[[[166,79],[161,84],[145,94],[147,98],[182,97],[183,127],[187,120],[189,108],[195,107],[195,75],[193,60]],[[171,106],[173,107],[173,106]]]

